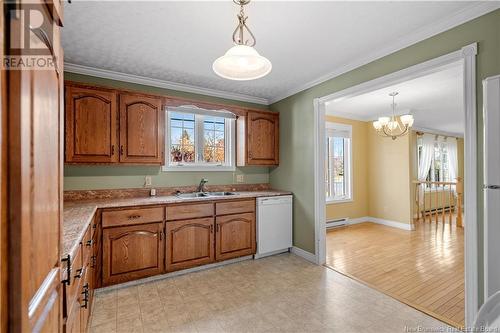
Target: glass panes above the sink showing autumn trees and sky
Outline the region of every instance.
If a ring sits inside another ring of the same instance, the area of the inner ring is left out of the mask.
[[[196,130],[201,122],[203,129]],[[203,136],[201,142],[197,135]],[[177,163],[224,163],[225,135],[224,118],[171,112],[170,160]],[[196,158],[197,145],[200,145],[199,161]]]

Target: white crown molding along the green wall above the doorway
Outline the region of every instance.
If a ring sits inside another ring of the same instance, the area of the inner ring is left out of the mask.
[[[367,54],[366,56],[355,59],[354,61],[346,64],[336,70],[323,75],[313,81],[307,82],[305,84],[299,85],[296,88],[290,89],[285,93],[278,95],[274,98],[270,99],[270,104],[276,103],[285,99],[289,96],[292,96],[296,93],[299,93],[303,90],[314,87],[318,84],[321,84],[325,81],[333,79],[337,76],[345,74],[349,71],[352,71],[358,67],[369,64],[377,59],[383,58],[391,53],[402,50],[408,46],[416,44],[420,41],[428,39],[432,36],[435,36],[441,32],[447,31],[451,28],[454,28],[460,24],[473,20],[477,17],[485,15],[491,11],[500,8],[500,1],[482,1],[479,3],[472,4],[470,6],[465,7],[464,9],[456,12],[448,18],[441,20],[440,22],[436,22],[425,27],[422,27],[419,30],[414,31],[411,34],[408,34],[405,37],[394,40],[392,43],[388,43],[387,46],[381,47],[378,50],[374,50],[372,53]]]

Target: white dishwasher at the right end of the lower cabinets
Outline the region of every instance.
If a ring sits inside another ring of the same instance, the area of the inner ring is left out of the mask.
[[[257,198],[256,259],[292,247],[292,202],[291,195]]]

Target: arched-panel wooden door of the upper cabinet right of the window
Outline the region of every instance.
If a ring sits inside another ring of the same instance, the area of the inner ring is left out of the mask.
[[[279,164],[279,114],[248,112],[247,164]]]

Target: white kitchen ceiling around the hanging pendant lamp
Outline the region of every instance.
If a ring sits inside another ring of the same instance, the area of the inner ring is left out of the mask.
[[[212,72],[214,59],[232,45],[238,12],[232,1],[73,1],[65,5],[62,40],[69,64],[275,101],[391,43],[428,37],[453,18],[464,21],[477,6],[253,1],[247,23],[273,70],[246,82]]]

